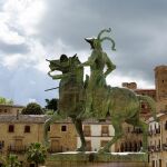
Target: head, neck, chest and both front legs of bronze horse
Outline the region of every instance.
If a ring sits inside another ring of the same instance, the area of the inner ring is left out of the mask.
[[[76,130],[81,139],[81,146],[77,150],[86,149],[86,140],[82,131],[81,118],[78,117],[84,111],[85,85],[84,67],[78,68],[80,61],[77,56],[68,58],[61,55],[60,60],[48,60],[50,71],[48,75],[52,79],[60,79],[58,110],[45,122],[45,143],[48,143],[48,128],[50,124],[58,119],[70,117],[75,124]],[[62,75],[51,76],[52,71],[61,71]]]

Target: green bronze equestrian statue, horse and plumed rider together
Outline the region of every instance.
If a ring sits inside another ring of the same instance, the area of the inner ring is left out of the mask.
[[[116,66],[102,51],[101,42],[104,40],[111,41],[112,50],[115,50],[115,42],[109,37],[100,38],[104,32],[110,32],[110,29],[102,30],[98,38],[86,39],[92,48],[88,61],[81,63],[77,55],[69,58],[61,55],[58,60],[48,60],[50,62],[48,75],[52,79],[60,79],[60,84],[58,110],[45,124],[45,141],[48,143],[50,124],[57,119],[70,117],[81,140],[81,146],[77,150],[85,151],[86,140],[82,120],[90,117],[97,119],[110,118],[115,136],[99,153],[110,151],[111,145],[124,136],[122,122],[141,128],[143,151],[146,151],[148,125],[139,119],[140,102],[143,100],[148,102],[153,116],[157,120],[155,101],[148,96],[136,95],[126,88],[107,86],[106,77]],[[87,76],[86,81],[84,81],[84,66],[90,66],[90,77]],[[104,72],[105,66],[108,67],[106,72]],[[62,73],[51,75],[52,71],[61,71]]]

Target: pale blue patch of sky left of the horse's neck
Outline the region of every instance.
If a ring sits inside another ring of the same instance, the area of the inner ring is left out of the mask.
[[[45,99],[58,97],[58,90],[45,91],[58,86],[58,82],[52,81],[47,73],[33,68],[22,69],[20,67],[14,71],[3,67],[0,69],[0,96],[11,98],[16,104],[27,105],[31,98],[45,106]]]

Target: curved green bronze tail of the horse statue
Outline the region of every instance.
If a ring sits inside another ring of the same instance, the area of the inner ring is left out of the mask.
[[[155,121],[158,121],[158,118],[156,115],[156,101],[149,96],[137,95],[137,98],[141,101],[146,101],[149,105],[150,111]]]

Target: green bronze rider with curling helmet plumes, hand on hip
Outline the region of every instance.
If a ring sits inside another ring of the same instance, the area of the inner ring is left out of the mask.
[[[100,88],[107,88],[106,77],[116,69],[116,66],[111,62],[106,52],[102,51],[101,42],[104,40],[109,40],[112,43],[112,50],[115,49],[115,41],[109,37],[100,38],[104,32],[110,32],[109,30],[102,30],[98,38],[86,38],[86,41],[90,43],[92,52],[88,58],[88,61],[84,62],[82,66],[90,66],[90,78],[88,81],[87,88],[87,98],[86,98],[86,111],[85,116],[91,116],[94,106],[94,92]],[[107,70],[104,72],[105,67]]]

